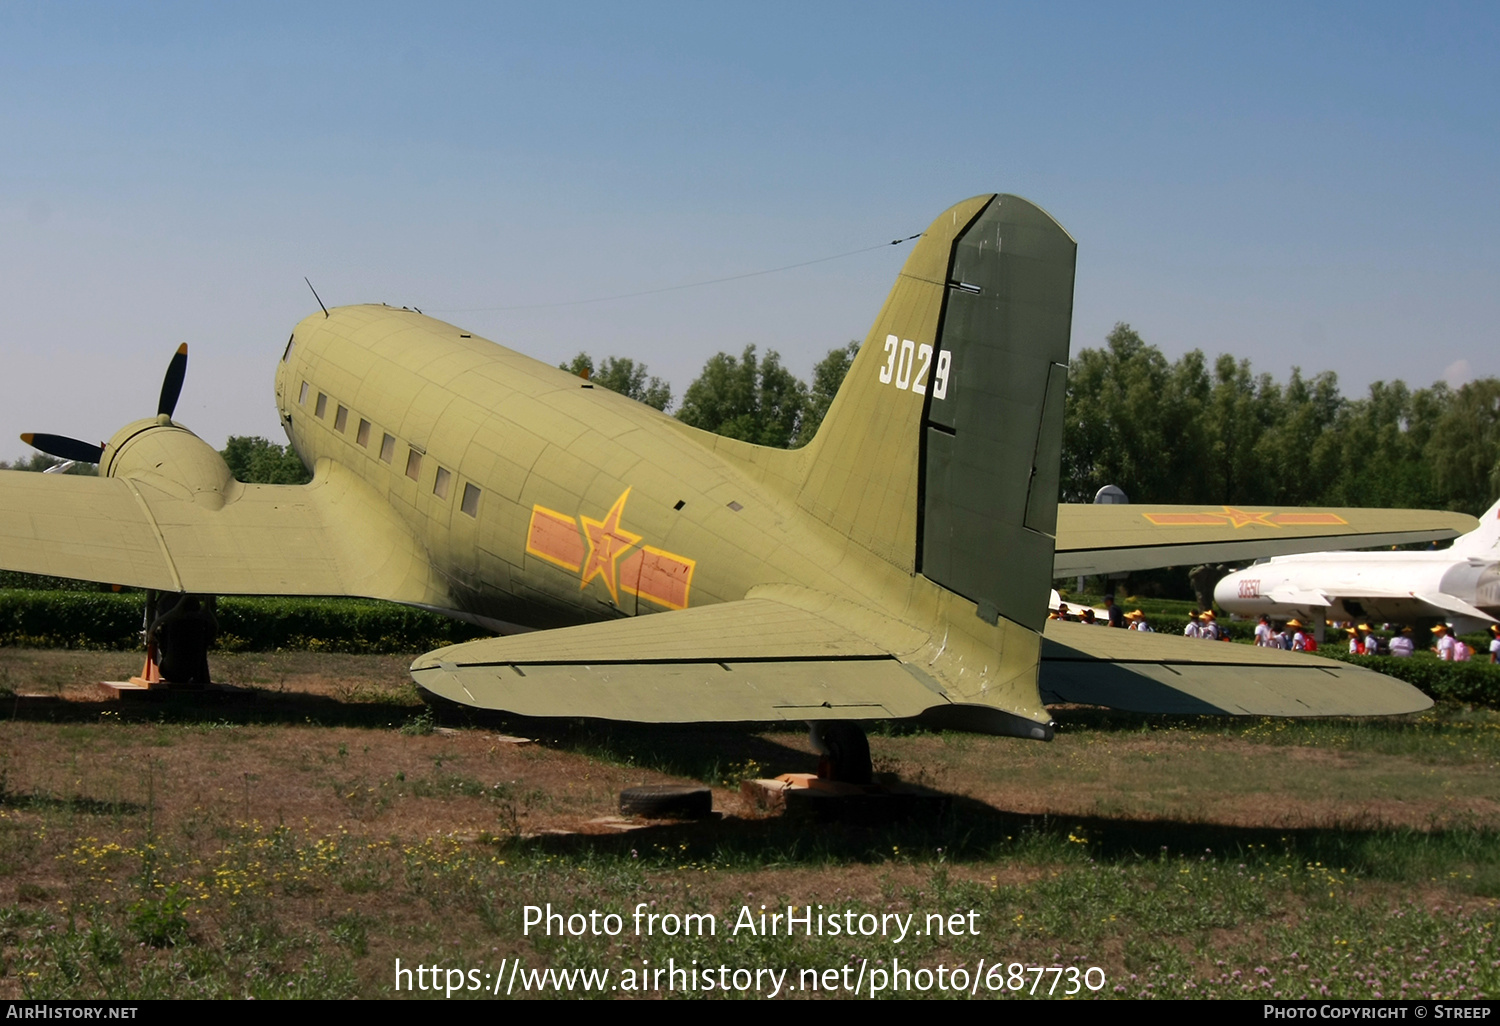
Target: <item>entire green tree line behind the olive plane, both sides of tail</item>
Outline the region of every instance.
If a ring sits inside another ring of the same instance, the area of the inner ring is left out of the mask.
[[[858,342],[831,350],[804,382],[774,350],[718,352],[674,416],[704,430],[795,448],[818,432]],[[672,387],[628,357],[579,352],[564,370],[656,410]],[[308,470],[286,446],[231,436],[225,462],[242,482],[298,484]],[[46,470],[34,454],[0,470]],[[75,466],[74,471],[87,472]],[[1338,376],[1298,368],[1286,382],[1230,354],[1176,362],[1128,324],[1068,369],[1062,501],[1088,502],[1118,484],[1134,502],[1368,506],[1479,514],[1500,498],[1500,378],[1410,388],[1377,381],[1340,393]]]

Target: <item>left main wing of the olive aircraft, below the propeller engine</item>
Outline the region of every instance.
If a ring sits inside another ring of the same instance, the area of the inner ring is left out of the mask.
[[[348,471],[237,484],[220,508],[148,482],[0,471],[0,568],[134,588],[441,604],[428,554]]]

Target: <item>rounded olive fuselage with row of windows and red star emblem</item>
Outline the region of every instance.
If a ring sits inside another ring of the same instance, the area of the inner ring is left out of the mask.
[[[693,429],[416,312],[304,320],[276,400],[303,462],[352,470],[423,538],[453,609],[484,620],[681,609],[838,562],[836,538]]]

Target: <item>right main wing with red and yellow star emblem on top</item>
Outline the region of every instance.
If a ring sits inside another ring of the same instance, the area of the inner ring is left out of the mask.
[[[1479,522],[1443,510],[1293,506],[1058,507],[1056,578],[1197,562],[1248,562],[1324,549],[1372,549],[1454,538]]]

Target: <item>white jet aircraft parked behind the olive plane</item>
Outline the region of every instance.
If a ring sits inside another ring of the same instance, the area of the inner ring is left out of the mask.
[[[1436,552],[1305,552],[1238,570],[1214,588],[1233,614],[1416,622],[1464,633],[1500,620],[1500,502]]]

